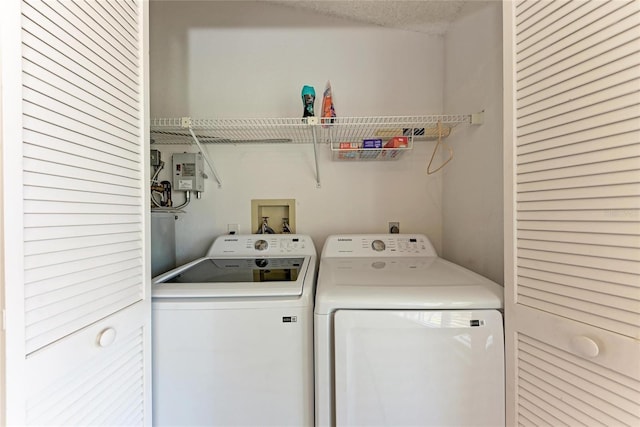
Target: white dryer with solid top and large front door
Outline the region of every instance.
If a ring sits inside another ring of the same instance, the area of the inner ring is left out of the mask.
[[[502,295],[424,235],[330,236],[316,426],[504,426]]]

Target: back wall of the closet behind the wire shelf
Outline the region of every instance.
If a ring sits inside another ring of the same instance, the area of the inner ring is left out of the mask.
[[[150,12],[152,117],[301,117],[302,86],[315,87],[319,109],[327,80],[339,116],[443,112],[440,36],[257,2],[158,1]],[[469,112],[457,107],[448,112]],[[178,221],[177,262],[201,256],[227,224],[252,232],[257,198],[295,198],[297,231],[318,250],[329,234],[387,232],[389,221],[427,234],[440,250],[442,174],[425,174],[434,144],[419,143],[398,161],[359,163],[334,162],[322,145],[321,188],[311,145],[209,145],[223,187],[207,180]],[[155,148],[168,164],[172,151],[197,151]]]

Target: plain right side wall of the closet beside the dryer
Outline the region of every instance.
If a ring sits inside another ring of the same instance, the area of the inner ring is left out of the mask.
[[[445,111],[485,111],[482,126],[447,138],[442,255],[503,283],[502,9],[495,1],[459,19],[445,37]]]

